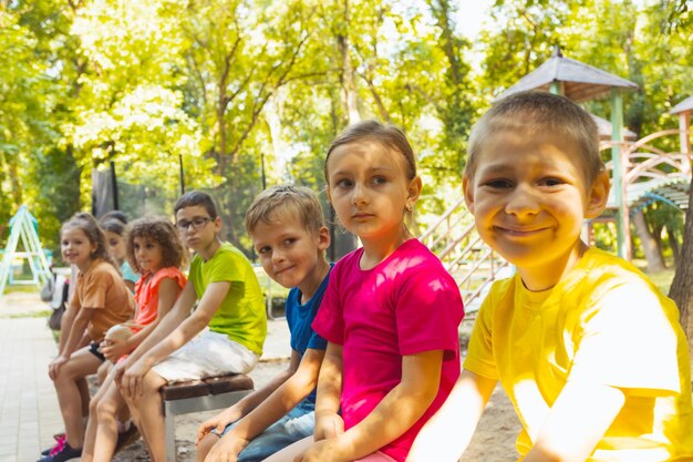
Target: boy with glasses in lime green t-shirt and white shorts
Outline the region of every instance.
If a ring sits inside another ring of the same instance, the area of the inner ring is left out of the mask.
[[[248,259],[219,240],[221,218],[211,197],[186,193],[174,211],[180,237],[197,253],[188,281],[170,311],[118,363],[116,372],[121,393],[155,461],[166,458],[162,386],[246,373],[257,363],[267,336],[260,285]]]

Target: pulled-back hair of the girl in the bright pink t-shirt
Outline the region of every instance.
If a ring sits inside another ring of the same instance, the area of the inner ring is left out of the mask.
[[[416,157],[404,132],[394,125],[385,125],[380,121],[371,120],[356,122],[348,126],[332,141],[328,148],[328,155],[324,157],[324,179],[328,184],[330,183],[330,178],[328,177],[328,160],[332,151],[344,144],[355,143],[362,140],[376,141],[389,150],[402,154],[406,163],[407,179],[414,179],[416,177]]]

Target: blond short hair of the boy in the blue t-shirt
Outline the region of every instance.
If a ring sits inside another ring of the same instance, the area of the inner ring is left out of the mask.
[[[325,226],[322,206],[316,194],[302,186],[272,186],[252,201],[246,212],[246,230],[252,234],[259,223],[271,224],[278,216],[299,217],[303,228],[318,234]]]

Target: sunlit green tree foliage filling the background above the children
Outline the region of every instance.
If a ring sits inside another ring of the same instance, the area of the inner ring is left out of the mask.
[[[461,196],[472,123],[555,44],[640,85],[625,94],[631,130],[678,126],[668,110],[693,93],[690,7],[497,0],[470,42],[455,19],[478,7],[449,0],[0,2],[0,235],[25,203],[55,250],[110,162],[132,185],[122,203],[167,212],[183,160],[186,188],[211,192],[248,249],[242,218],[262,174],[322,191],[330,141],[366,117],[407,133],[425,225]],[[609,116],[608,102],[587,109]],[[655,212],[658,226],[680,226]]]

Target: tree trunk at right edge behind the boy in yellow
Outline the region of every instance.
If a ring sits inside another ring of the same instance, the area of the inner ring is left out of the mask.
[[[693,358],[693,319],[691,319],[693,315],[693,265],[686,264],[686,261],[693,261],[693,187],[689,193],[689,204],[692,206],[689,206],[685,213],[681,265],[676,267],[669,296],[681,311],[681,326],[689,338],[689,352]],[[691,366],[693,366],[693,359],[691,359]]]

